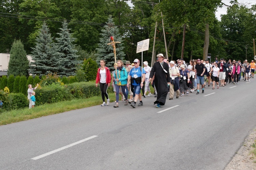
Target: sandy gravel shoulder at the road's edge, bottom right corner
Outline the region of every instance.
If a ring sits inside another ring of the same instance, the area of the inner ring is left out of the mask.
[[[234,155],[225,170],[256,170],[256,163],[254,163],[256,157],[253,159],[252,154],[250,154],[250,151],[253,149],[251,146],[255,140],[256,130],[247,136],[242,147]]]

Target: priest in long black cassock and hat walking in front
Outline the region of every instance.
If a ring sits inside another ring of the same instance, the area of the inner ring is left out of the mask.
[[[157,108],[165,105],[166,97],[168,94],[168,84],[170,85],[170,74],[169,66],[167,63],[163,62],[165,58],[163,54],[157,54],[158,62],[156,62],[150,72],[150,81],[155,75],[155,86],[157,91],[157,100],[154,104],[157,104]]]

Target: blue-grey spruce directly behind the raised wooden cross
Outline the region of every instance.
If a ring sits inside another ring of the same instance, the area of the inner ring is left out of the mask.
[[[100,60],[104,60],[106,62],[106,67],[110,69],[114,69],[115,63],[115,55],[113,53],[113,47],[111,45],[107,45],[111,43],[110,37],[114,37],[114,41],[121,42],[120,44],[116,44],[116,60],[124,60],[125,53],[122,51],[124,47],[122,47],[122,38],[119,33],[119,29],[117,26],[114,26],[112,16],[109,16],[109,21],[106,22],[106,26],[101,30],[100,43],[98,44],[99,48],[97,48],[97,60],[96,62],[99,64]]]

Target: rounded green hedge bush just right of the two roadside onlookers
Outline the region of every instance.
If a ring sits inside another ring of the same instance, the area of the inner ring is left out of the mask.
[[[37,88],[35,92],[35,98],[38,105],[73,99],[69,91],[58,83],[53,83],[49,86]]]

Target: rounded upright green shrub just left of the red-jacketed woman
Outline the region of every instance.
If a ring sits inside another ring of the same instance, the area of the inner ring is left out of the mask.
[[[95,81],[98,71],[98,66],[95,61],[93,61],[91,58],[84,60],[83,70],[85,72],[85,81]]]

